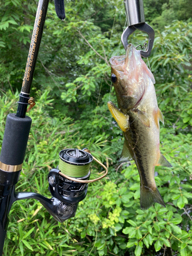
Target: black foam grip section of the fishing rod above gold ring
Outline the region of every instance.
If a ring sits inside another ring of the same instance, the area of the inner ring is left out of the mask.
[[[0,161],[8,165],[19,165],[24,162],[27,141],[32,119],[16,117],[9,114],[6,120]]]

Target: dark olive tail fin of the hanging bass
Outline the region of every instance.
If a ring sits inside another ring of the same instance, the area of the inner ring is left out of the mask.
[[[147,210],[148,208],[150,208],[153,205],[153,203],[159,203],[162,206],[166,207],[157,187],[154,190],[150,187],[146,187],[146,186],[140,184],[141,209]]]

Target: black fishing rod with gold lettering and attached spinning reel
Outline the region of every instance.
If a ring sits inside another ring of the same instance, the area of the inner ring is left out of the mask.
[[[78,203],[87,195],[88,184],[104,178],[108,173],[105,165],[94,158],[88,148],[83,150],[67,148],[59,152],[59,164],[48,174],[51,198],[33,192],[15,192],[15,186],[22,171],[32,123],[32,119],[26,116],[26,112],[29,112],[35,105],[34,98],[30,97],[30,89],[48,4],[49,0],[39,0],[38,2],[22,90],[17,102],[17,112],[16,114],[8,114],[6,120],[0,155],[0,256],[3,253],[9,224],[9,212],[15,201],[36,199],[55,220],[62,223],[75,216]],[[57,16],[63,20],[65,18],[63,0],[55,0],[55,10]],[[28,105],[29,108],[27,109]],[[105,173],[99,178],[90,180],[90,168],[93,160],[104,168]]]

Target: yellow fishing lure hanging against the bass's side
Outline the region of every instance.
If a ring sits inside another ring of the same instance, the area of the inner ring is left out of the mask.
[[[129,123],[129,115],[124,115],[120,110],[117,108],[117,106],[112,102],[108,101],[108,108],[113,116],[115,118],[115,121],[118,123],[120,129],[123,132],[126,132],[129,130],[130,123]]]

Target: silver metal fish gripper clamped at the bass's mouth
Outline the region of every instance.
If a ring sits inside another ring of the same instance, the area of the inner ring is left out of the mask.
[[[148,46],[147,50],[141,50],[141,56],[149,57],[153,48],[155,32],[153,28],[145,23],[143,0],[124,0],[124,7],[126,12],[128,27],[121,35],[121,42],[126,50],[129,45],[127,42],[128,37],[134,33],[137,29],[148,34]]]

